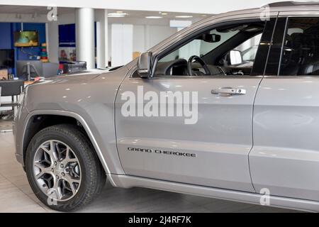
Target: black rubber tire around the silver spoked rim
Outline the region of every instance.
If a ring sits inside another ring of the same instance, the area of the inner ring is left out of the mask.
[[[60,140],[69,145],[81,165],[82,179],[77,194],[67,201],[57,201],[57,204],[48,203],[48,196],[38,187],[33,174],[35,152],[47,140]],[[26,151],[26,174],[35,196],[43,204],[57,211],[81,209],[101,192],[106,182],[106,174],[91,143],[77,126],[69,124],[50,126],[35,134]]]

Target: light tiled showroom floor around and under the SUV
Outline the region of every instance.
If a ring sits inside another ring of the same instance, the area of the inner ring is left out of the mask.
[[[0,130],[10,126],[0,121]],[[12,133],[0,133],[0,212],[52,212],[35,197],[14,156]],[[190,196],[153,189],[120,189],[106,184],[80,212],[295,212],[266,206]]]

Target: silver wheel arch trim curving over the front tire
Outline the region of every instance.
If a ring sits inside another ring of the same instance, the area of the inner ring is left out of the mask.
[[[82,132],[84,133],[84,135],[87,136],[88,140],[90,141],[91,145],[93,146],[96,152],[96,155],[98,155],[99,161],[101,162],[104,171],[106,172],[108,177],[111,178],[111,172],[108,168],[108,165],[106,164],[106,160],[103,157],[101,149],[99,148],[99,145],[96,142],[96,139],[94,138],[94,135],[91,132],[91,129],[89,128],[88,124],[86,123],[86,121],[84,121],[84,118],[82,118],[82,116],[70,111],[37,110],[32,111],[28,114],[23,126],[23,137],[21,138],[23,163],[26,159],[26,150],[28,148],[28,144],[30,143],[30,140],[33,138],[33,136],[43,128],[54,126],[60,123],[71,123],[79,126],[79,128],[82,128]],[[113,180],[110,180],[113,186],[116,186]]]

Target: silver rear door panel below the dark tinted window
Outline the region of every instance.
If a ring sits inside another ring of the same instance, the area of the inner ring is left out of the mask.
[[[319,201],[319,78],[264,77],[250,153],[257,192]]]

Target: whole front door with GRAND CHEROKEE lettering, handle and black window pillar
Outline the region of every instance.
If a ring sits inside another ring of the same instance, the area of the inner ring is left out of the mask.
[[[250,75],[155,74],[142,79],[131,70],[116,97],[117,147],[126,175],[254,192],[248,162],[252,106],[273,26],[274,19],[267,21]],[[182,46],[179,57],[186,49],[194,50],[194,43]],[[160,99],[172,94],[171,106]],[[123,113],[128,96],[134,99],[130,116]],[[153,114],[145,113],[150,96],[158,97]],[[184,112],[177,114],[178,107]],[[174,114],[168,114],[170,108]]]

